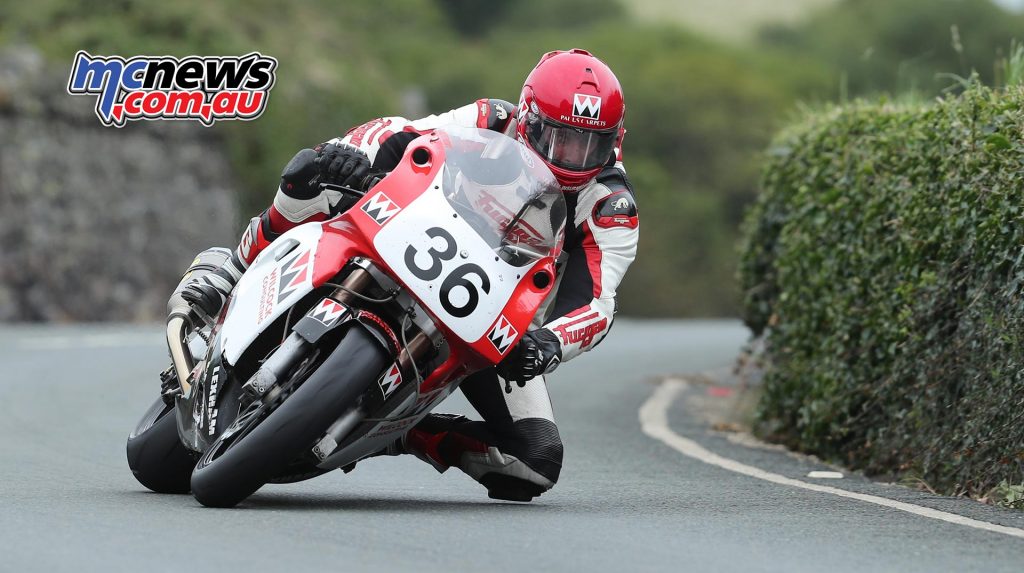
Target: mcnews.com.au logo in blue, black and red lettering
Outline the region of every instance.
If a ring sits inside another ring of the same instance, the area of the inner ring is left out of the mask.
[[[68,93],[96,96],[104,126],[138,120],[254,120],[266,109],[278,60],[243,56],[75,54]]]

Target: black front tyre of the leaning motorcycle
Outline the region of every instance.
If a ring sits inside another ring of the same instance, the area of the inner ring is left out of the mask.
[[[374,383],[387,359],[369,333],[352,327],[326,358],[299,366],[291,384],[301,385],[275,409],[239,414],[234,430],[225,431],[196,466],[193,495],[211,508],[231,508],[252,495],[313,446]],[[312,370],[305,373],[310,363]]]

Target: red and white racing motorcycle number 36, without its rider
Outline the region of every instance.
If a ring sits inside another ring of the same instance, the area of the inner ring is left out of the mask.
[[[325,187],[348,209],[274,240],[219,316],[180,292],[230,251],[201,253],[175,289],[171,365],[128,438],[145,487],[223,508],[349,470],[500,362],[554,288],[565,203],[505,135],[438,129],[369,191]]]

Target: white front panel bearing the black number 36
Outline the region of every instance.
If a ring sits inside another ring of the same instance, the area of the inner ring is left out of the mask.
[[[430,312],[472,343],[495,323],[528,267],[500,259],[436,188],[440,179],[391,218],[374,247]]]

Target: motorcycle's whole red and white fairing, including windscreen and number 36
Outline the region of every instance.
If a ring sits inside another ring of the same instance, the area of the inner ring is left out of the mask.
[[[286,232],[253,261],[221,326],[224,358],[237,363],[303,297],[353,258],[368,259],[419,302],[449,345],[446,361],[422,372],[417,394],[367,438],[384,442],[408,430],[453,383],[501,361],[554,288],[564,200],[535,158],[521,143],[475,128],[416,139],[348,211]],[[344,312],[324,305],[308,315],[324,321]],[[385,396],[410,383],[391,370],[378,381]]]

